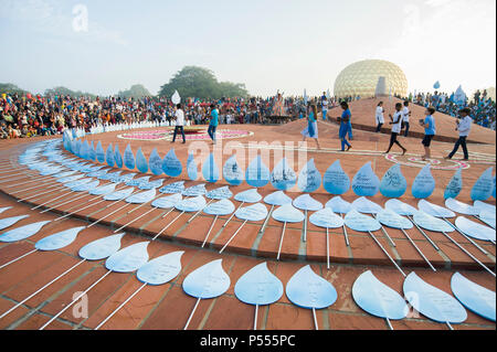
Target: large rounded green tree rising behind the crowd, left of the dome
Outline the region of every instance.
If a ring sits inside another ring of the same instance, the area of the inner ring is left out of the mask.
[[[178,90],[182,97],[200,99],[248,96],[245,85],[230,82],[219,83],[212,71],[198,66],[184,66],[160,88],[159,96],[171,97],[175,90]]]

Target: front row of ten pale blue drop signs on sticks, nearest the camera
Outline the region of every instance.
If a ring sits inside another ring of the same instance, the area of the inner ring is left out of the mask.
[[[70,228],[44,237],[36,242],[35,248],[38,250],[63,248],[72,243],[83,228]],[[108,269],[107,274],[112,271],[133,273],[137,270],[137,278],[144,284],[139,290],[146,285],[169,282],[180,274],[183,252],[169,253],[149,262],[147,252],[149,242],[137,243],[119,250],[123,236],[124,234],[117,234],[94,241],[80,249],[80,257],[82,260],[102,260],[107,258],[105,262],[105,266]],[[211,299],[223,295],[230,285],[230,277],[222,267],[222,259],[216,259],[190,273],[184,278],[182,288],[186,294],[195,297],[200,301],[200,299]],[[451,323],[462,323],[467,319],[467,313],[463,306],[485,319],[495,321],[495,292],[468,280],[458,273],[453,275],[451,287],[457,300],[445,291],[427,284],[413,271],[404,280],[403,298],[395,290],[378,280],[369,270],[356,279],[352,287],[352,297],[358,306],[367,312],[387,319],[390,328],[390,320],[404,319],[410,313],[406,301],[429,319],[447,323],[448,326]],[[85,292],[88,290],[89,288]],[[278,301],[283,296],[284,288],[282,281],[268,270],[266,263],[262,263],[250,269],[236,281],[234,292],[242,302],[254,305],[257,309],[258,306],[272,305]],[[135,294],[130,297],[134,297]],[[288,280],[285,294],[294,305],[313,310],[316,328],[318,328],[315,314],[316,309],[324,309],[334,305],[338,296],[334,286],[314,273],[309,265],[300,268]],[[77,299],[75,298],[71,305]],[[70,306],[66,306],[66,308]],[[118,309],[121,308],[123,305]],[[0,319],[12,310],[10,309],[2,313]],[[194,310],[184,328],[188,328],[193,312]],[[116,311],[102,321],[97,329],[115,313]],[[56,314],[51,321],[59,316]],[[255,313],[256,316],[257,313]],[[45,328],[51,321],[42,328]],[[256,328],[256,320],[254,328]]]

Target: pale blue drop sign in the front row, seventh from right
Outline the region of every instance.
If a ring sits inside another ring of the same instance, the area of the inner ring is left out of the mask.
[[[136,273],[136,277],[148,285],[157,286],[169,282],[180,274],[183,254],[183,250],[178,250],[155,258],[141,266]]]

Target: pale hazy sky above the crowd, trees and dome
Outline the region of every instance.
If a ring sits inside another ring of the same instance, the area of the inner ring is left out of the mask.
[[[0,0],[0,82],[156,94],[198,65],[253,95],[317,95],[348,64],[381,58],[410,90],[470,93],[496,85],[495,12],[495,0]]]

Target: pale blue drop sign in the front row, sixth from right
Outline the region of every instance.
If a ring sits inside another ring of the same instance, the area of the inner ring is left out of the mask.
[[[190,273],[184,278],[182,287],[187,295],[209,299],[224,294],[230,288],[230,284],[222,259],[216,259]]]

